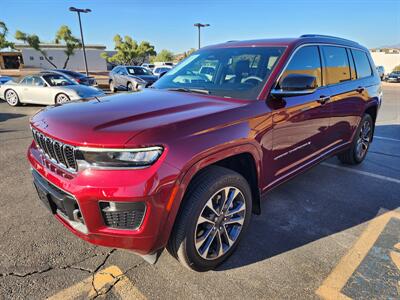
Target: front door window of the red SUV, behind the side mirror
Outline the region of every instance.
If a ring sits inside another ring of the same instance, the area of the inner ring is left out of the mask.
[[[321,60],[317,46],[306,46],[300,48],[290,60],[282,74],[279,85],[289,74],[307,74],[317,78],[317,86],[322,85]]]

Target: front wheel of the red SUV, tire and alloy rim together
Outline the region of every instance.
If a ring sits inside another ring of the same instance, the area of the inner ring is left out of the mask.
[[[222,167],[207,168],[185,195],[169,252],[189,269],[214,269],[239,244],[251,209],[251,190],[243,176]]]

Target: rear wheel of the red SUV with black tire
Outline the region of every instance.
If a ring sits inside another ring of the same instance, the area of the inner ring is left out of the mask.
[[[366,126],[366,124],[368,124],[369,126],[368,133],[366,133],[367,130],[363,132],[363,130],[365,129],[364,126]],[[372,141],[374,126],[375,125],[372,120],[372,117],[369,114],[364,114],[360,124],[358,125],[357,131],[354,135],[354,139],[351,143],[350,148],[337,155],[337,157],[342,163],[347,165],[358,165],[365,159],[369,146]],[[364,143],[361,143],[361,141],[363,141]],[[360,153],[359,147],[362,148],[363,150],[362,153]]]

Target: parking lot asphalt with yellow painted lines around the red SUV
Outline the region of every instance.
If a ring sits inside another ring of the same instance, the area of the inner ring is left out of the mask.
[[[400,297],[400,84],[384,85],[362,165],[333,157],[269,192],[235,254],[207,273],[166,251],[149,265],[58,223],[25,158],[28,120],[40,108],[0,101],[0,299]]]

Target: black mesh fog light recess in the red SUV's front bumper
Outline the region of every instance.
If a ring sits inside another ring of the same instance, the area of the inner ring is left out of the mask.
[[[104,224],[115,229],[138,229],[146,212],[144,202],[100,201],[99,205]]]

